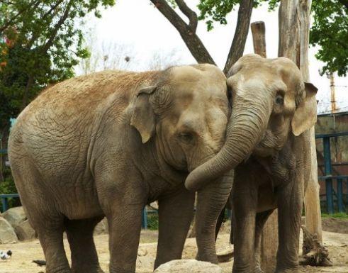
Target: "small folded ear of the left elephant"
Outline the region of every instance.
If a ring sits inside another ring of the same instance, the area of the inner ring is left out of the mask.
[[[155,133],[155,113],[150,102],[150,95],[156,88],[156,86],[150,86],[140,89],[130,118],[130,125],[140,133],[142,143],[147,143]]]

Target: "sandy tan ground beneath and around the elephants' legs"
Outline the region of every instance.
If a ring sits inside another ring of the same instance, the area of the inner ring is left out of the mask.
[[[335,272],[348,273],[348,234],[323,232],[325,245],[329,248],[330,258],[333,267],[302,267],[301,272]],[[228,234],[219,235],[217,249],[223,252],[232,248],[228,243]],[[142,230],[140,247],[137,257],[137,272],[152,272],[157,248],[157,232]],[[108,272],[108,235],[96,235],[96,249],[99,254],[101,267]],[[65,250],[69,257],[69,246],[64,240]],[[32,260],[44,260],[43,250],[38,240],[12,245],[0,245],[0,250],[11,250],[13,257],[7,262],[0,262],[1,273],[39,273],[45,272],[45,267],[38,267]],[[193,238],[187,239],[184,248],[184,259],[194,258],[196,255],[196,241]],[[232,272],[232,262],[220,264],[224,272]]]

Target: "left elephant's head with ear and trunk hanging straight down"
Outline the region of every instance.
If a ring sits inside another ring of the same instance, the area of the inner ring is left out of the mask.
[[[155,145],[162,161],[185,179],[225,142],[230,115],[225,75],[213,65],[170,67],[154,83],[138,92],[131,125],[142,143]],[[205,253],[215,252],[215,223],[231,186],[232,178],[222,175],[198,191],[196,235]],[[198,256],[217,262],[215,255]]]

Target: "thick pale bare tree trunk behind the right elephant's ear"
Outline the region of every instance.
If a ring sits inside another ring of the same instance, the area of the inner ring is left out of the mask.
[[[305,82],[309,82],[308,48],[311,5],[311,0],[282,0],[279,7],[279,56],[288,57],[296,62]],[[320,186],[314,127],[310,129],[308,142],[310,142],[311,173],[305,191],[305,224],[308,232],[321,243]],[[318,255],[319,252],[320,250],[317,252]]]

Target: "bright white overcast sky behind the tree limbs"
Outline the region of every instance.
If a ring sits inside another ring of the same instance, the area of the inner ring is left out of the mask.
[[[198,0],[186,0],[186,3],[199,13],[196,8]],[[180,13],[180,11],[177,11]],[[87,16],[84,29],[94,29],[94,43],[96,48],[105,44],[122,44],[130,47],[136,57],[130,59],[128,69],[145,70],[154,55],[169,55],[173,57],[175,65],[192,64],[196,62],[186,48],[177,30],[155,6],[146,0],[117,0],[112,8],[103,9],[102,18]],[[181,18],[187,21],[181,14]],[[215,28],[206,30],[206,23],[198,22],[197,34],[206,46],[215,63],[223,69],[230,50],[235,26],[237,23],[237,9],[228,15],[228,24],[221,26],[215,23]],[[264,21],[266,24],[267,57],[277,57],[278,52],[278,11],[267,11],[266,4],[259,6],[252,12],[252,22]],[[105,49],[104,49],[105,51]],[[330,79],[324,74],[320,76],[319,69],[322,62],[315,59],[318,48],[309,49],[310,82],[318,87],[318,113],[330,110]],[[245,52],[252,53],[252,34],[249,31]],[[110,52],[111,54],[112,52]],[[92,52],[93,54],[93,52]],[[174,65],[172,64],[172,65]],[[77,74],[81,74],[77,69]],[[335,75],[336,101],[340,111],[348,111],[348,77]]]

